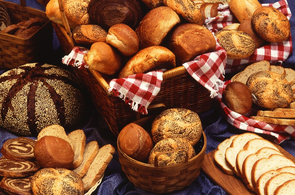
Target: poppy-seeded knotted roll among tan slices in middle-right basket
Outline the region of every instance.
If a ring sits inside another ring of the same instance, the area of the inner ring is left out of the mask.
[[[249,76],[253,102],[264,108],[284,108],[293,99],[293,90],[282,75],[271,71],[259,71]]]

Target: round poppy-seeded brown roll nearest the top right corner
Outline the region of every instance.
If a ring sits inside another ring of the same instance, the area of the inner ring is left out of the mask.
[[[285,41],[291,34],[288,18],[273,7],[257,9],[252,17],[252,26],[259,36],[273,43]]]

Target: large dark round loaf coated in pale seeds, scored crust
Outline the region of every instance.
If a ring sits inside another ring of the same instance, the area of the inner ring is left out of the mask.
[[[0,76],[0,126],[20,135],[37,135],[58,124],[81,121],[84,98],[76,77],[49,64],[25,64]]]

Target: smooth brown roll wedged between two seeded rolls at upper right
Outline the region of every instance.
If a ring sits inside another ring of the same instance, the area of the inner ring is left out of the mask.
[[[260,48],[268,44],[268,42],[262,39],[252,28],[251,19],[247,19],[241,22],[238,27],[238,30],[243,31],[247,34],[250,34],[255,41],[256,48]]]

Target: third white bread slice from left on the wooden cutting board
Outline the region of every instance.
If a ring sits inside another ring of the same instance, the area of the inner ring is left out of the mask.
[[[271,143],[270,141],[268,141],[266,139],[261,138],[261,139],[249,140],[245,144],[243,149],[240,150],[239,153],[237,154],[236,167],[237,167],[237,171],[239,172],[240,176],[243,175],[242,167],[243,167],[243,163],[244,163],[245,159],[250,154],[255,154],[259,149],[261,149],[263,147],[269,147],[269,148],[273,148],[273,149],[279,151],[279,149],[273,143]]]

